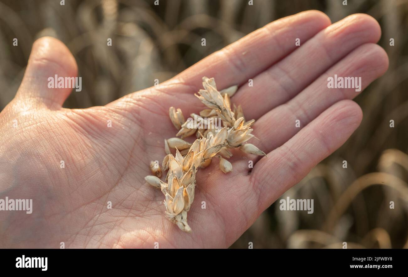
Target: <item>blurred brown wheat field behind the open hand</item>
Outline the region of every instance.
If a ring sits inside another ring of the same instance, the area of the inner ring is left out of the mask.
[[[1,0],[0,109],[16,94],[31,45],[44,35],[67,44],[83,79],[82,92],[72,92],[64,106],[86,108],[165,81],[278,18],[308,9],[332,22],[367,13],[381,25],[388,72],[355,99],[364,119],[353,136],[281,197],[314,199],[314,213],[280,211],[277,201],[231,247],[408,248],[408,0],[153,2]]]

